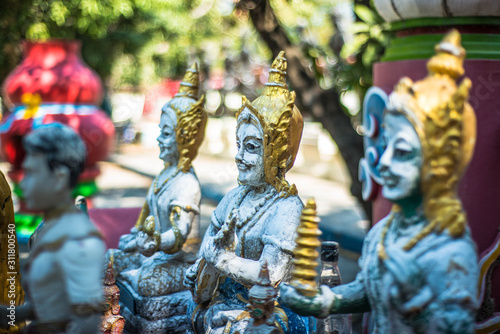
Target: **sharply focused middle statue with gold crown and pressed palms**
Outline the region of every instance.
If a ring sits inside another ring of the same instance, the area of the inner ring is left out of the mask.
[[[212,213],[201,258],[186,274],[197,304],[191,310],[197,333],[241,330],[238,323],[249,317],[248,289],[258,284],[264,262],[273,286],[289,278],[302,202],[285,173],[294,163],[303,121],[285,82],[286,66],[282,52],[262,95],[252,103],[243,99],[236,114],[240,185]],[[305,331],[304,319],[279,305],[275,312],[285,332]]]

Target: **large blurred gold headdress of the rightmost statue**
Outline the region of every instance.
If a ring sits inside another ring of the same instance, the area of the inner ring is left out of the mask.
[[[457,186],[476,138],[474,110],[467,103],[471,81],[464,78],[457,86],[465,58],[457,30],[448,33],[435,49],[436,55],[427,63],[427,77],[415,83],[401,79],[387,106],[387,112],[403,114],[413,124],[422,143],[421,189],[429,224],[406,250],[433,231],[462,236],[467,225]]]

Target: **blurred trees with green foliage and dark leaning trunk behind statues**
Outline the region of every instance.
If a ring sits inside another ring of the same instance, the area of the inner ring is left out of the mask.
[[[198,61],[205,79],[222,73],[207,90],[253,99],[284,50],[300,110],[336,142],[370,217],[357,181],[359,111],[389,40],[382,22],[370,0],[3,0],[0,82],[20,62],[22,40],[80,39],[108,90],[145,91]]]

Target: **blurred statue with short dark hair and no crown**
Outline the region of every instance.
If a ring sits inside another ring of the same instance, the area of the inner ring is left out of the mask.
[[[85,146],[71,128],[57,123],[37,128],[23,144],[21,189],[26,205],[43,211],[44,219],[32,238],[23,276],[26,302],[16,308],[16,320],[32,320],[27,333],[95,334],[105,246],[71,196],[85,165]]]

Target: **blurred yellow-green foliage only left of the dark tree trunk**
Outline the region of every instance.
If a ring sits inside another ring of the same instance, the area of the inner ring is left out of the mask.
[[[23,39],[51,38],[82,40],[84,60],[112,87],[177,78],[206,52],[241,44],[248,22],[228,14],[206,0],[2,0],[0,82],[20,62]]]

